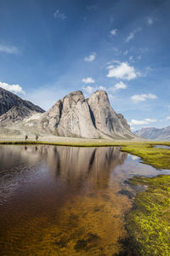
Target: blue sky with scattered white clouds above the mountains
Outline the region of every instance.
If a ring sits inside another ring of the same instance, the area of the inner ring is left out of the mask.
[[[0,86],[45,110],[106,90],[132,131],[170,125],[169,0],[0,0]]]

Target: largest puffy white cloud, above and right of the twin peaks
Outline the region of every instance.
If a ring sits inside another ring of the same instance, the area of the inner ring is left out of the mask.
[[[117,67],[113,67],[109,70],[107,74],[108,78],[116,78],[116,79],[125,79],[132,80],[139,76],[140,73],[137,73],[134,70],[133,66],[129,66],[127,62],[119,62]]]

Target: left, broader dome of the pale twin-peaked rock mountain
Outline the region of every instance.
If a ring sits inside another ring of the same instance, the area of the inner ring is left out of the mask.
[[[42,127],[62,137],[99,137],[82,91],[75,91],[58,101],[43,114]]]

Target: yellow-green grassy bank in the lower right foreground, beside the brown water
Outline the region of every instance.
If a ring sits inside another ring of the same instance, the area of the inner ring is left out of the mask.
[[[170,255],[170,176],[133,177],[147,186],[127,213],[127,233],[134,255]]]

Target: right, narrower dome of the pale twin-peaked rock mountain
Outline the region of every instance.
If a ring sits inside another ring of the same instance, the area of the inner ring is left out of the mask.
[[[133,136],[130,131],[127,120],[122,114],[116,113],[109,102],[109,98],[105,90],[94,92],[88,99],[88,105],[94,120],[94,126],[97,130],[114,137],[118,136]]]

